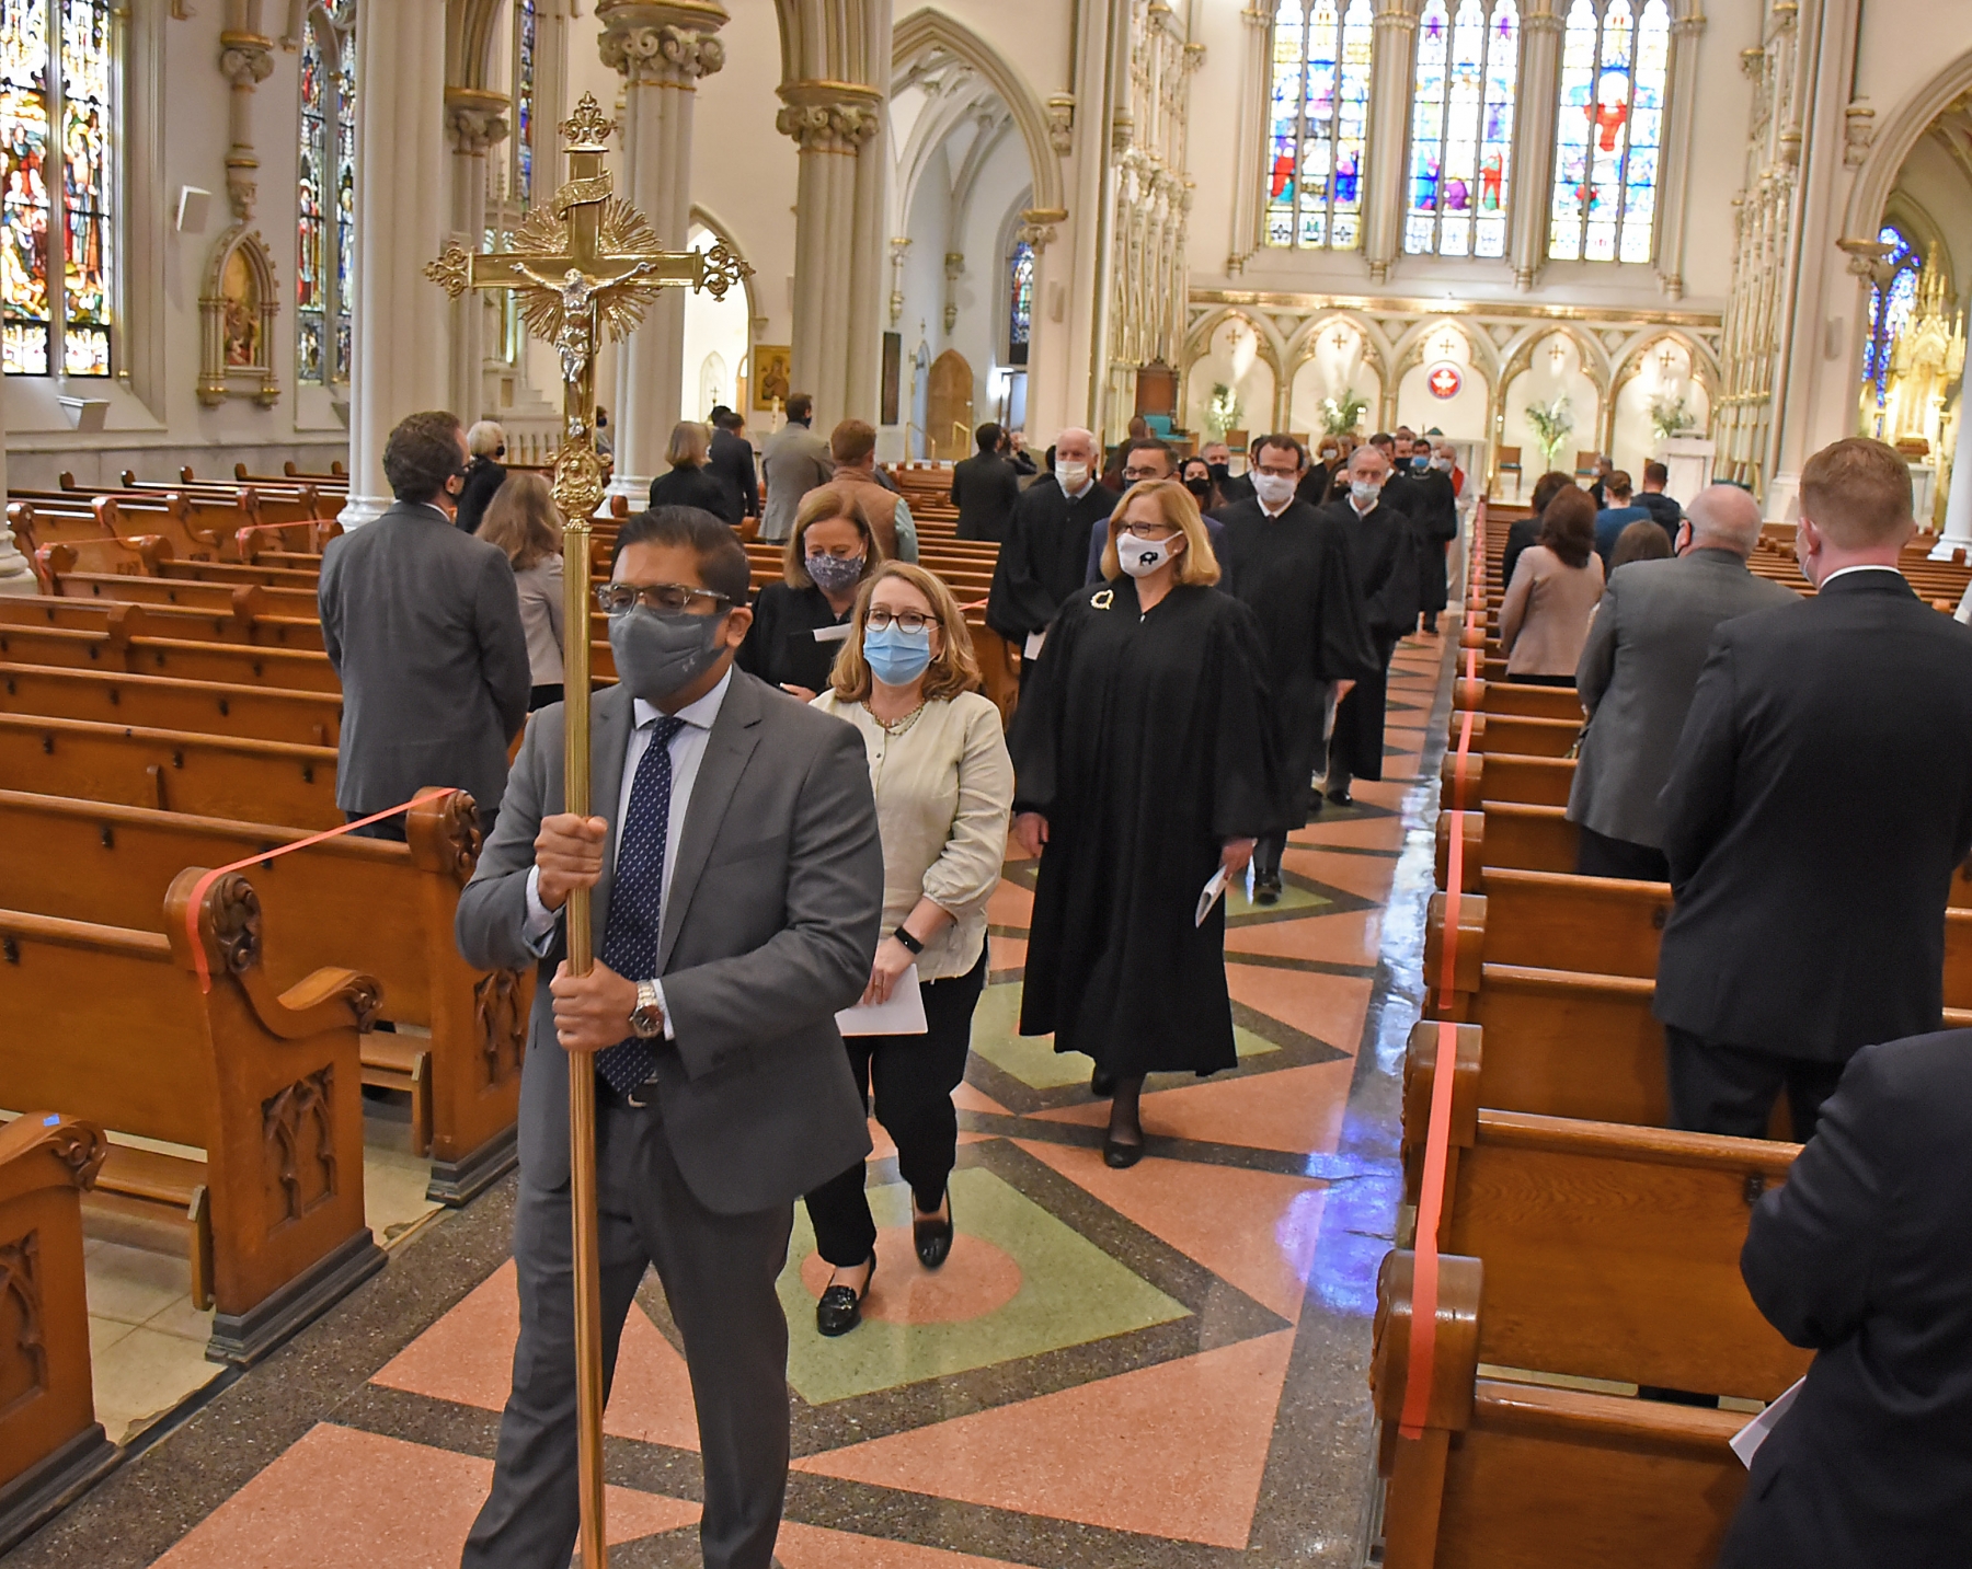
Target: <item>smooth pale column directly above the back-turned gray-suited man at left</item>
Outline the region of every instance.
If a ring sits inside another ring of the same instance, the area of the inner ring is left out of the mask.
[[[450,402],[446,298],[424,264],[446,248],[446,0],[357,0],[357,276],[343,528],[390,505],[383,445],[406,414]]]

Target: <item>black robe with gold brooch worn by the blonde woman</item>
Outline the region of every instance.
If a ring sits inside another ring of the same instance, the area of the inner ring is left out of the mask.
[[[1114,1074],[1231,1068],[1225,901],[1193,917],[1225,840],[1280,828],[1252,611],[1213,587],[1150,615],[1132,578],[1085,589],[1008,739],[1014,810],[1047,818],[1020,1033]]]

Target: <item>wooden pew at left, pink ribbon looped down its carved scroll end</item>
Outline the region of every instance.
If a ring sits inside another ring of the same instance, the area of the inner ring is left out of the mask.
[[[245,1364],[383,1267],[357,1047],[379,988],[317,970],[276,993],[252,883],[229,873],[193,905],[201,875],[172,881],[164,932],[0,911],[0,1072],[22,1106],[201,1151],[114,1147],[97,1187],[183,1216],[193,1297],[217,1307],[207,1356]]]

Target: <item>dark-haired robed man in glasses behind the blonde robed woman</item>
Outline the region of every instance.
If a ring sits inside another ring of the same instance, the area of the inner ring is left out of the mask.
[[[1313,777],[1327,761],[1335,684],[1382,670],[1343,526],[1296,497],[1305,467],[1307,453],[1292,436],[1262,436],[1254,495],[1215,512],[1225,524],[1217,546],[1225,574],[1219,587],[1246,603],[1258,621],[1288,792],[1282,830],[1262,834],[1252,852],[1252,897],[1260,905],[1280,899],[1288,832],[1321,808]]]

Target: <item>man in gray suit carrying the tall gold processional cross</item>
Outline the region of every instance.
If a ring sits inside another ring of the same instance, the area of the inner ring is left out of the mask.
[[[513,1254],[521,1344],[465,1569],[550,1569],[576,1541],[568,1058],[596,1057],[605,1378],[657,1265],[698,1405],[708,1569],[769,1569],[787,1490],[795,1194],[870,1151],[834,1013],[870,982],[883,911],[858,733],[734,670],[747,562],[710,512],[617,536],[598,694],[596,816],[562,810],[562,706],[534,714],[499,832],[459,897],[459,952],[540,966],[521,1078]],[[562,964],[594,889],[596,968]],[[560,1049],[556,1049],[560,1047]]]

